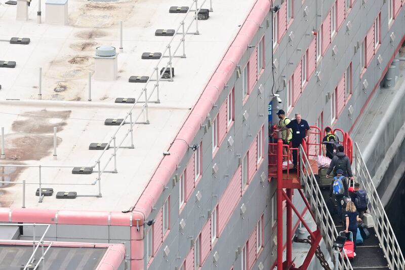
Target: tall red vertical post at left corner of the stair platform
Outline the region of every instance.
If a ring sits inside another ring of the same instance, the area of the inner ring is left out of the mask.
[[[282,269],[282,140],[277,141],[277,269]],[[289,240],[287,239],[287,242]],[[290,240],[291,241],[291,240]]]

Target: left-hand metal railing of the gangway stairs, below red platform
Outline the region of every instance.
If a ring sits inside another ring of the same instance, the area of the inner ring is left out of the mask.
[[[304,195],[308,198],[308,203],[315,215],[315,222],[320,229],[331,258],[334,260],[333,243],[339,236],[339,233],[323,199],[322,192],[302,145],[300,145],[300,180],[301,185],[304,186]],[[339,269],[353,269],[345,251],[343,250],[342,252],[343,256],[338,256]]]

